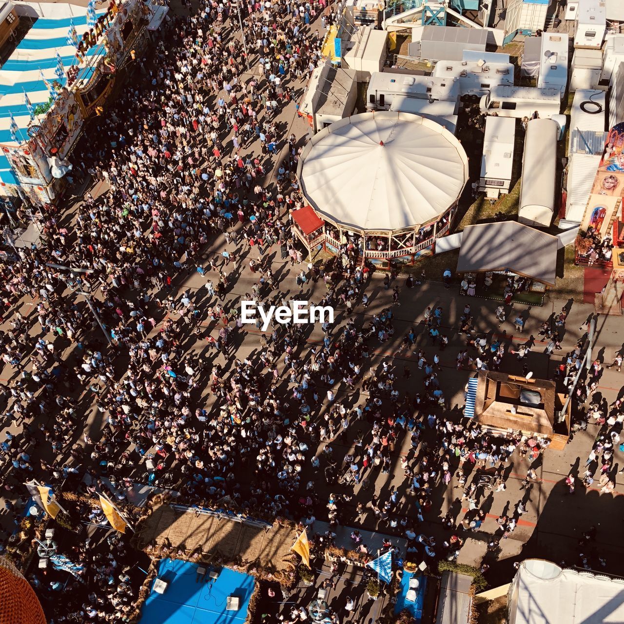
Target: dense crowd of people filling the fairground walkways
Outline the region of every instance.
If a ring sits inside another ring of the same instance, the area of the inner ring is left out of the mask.
[[[485,519],[485,492],[505,490],[514,455],[529,464],[528,495],[548,439],[496,437],[453,414],[439,376],[449,344],[441,305],[427,308],[402,338],[399,353],[413,351],[413,366],[401,373],[391,358],[371,366],[373,349],[397,341],[402,286],[396,273],[386,275],[392,305],[363,322],[356,308],[368,308],[371,267],[358,261],[361,241],[341,241],[333,260],[304,260],[289,223],[302,205],[292,175],[301,143],[277,119],[294,109],[321,58],[323,33],[314,19],[322,14],[324,28],[336,16],[324,0],[238,6],[247,54],[235,6],[202,2],[188,17],[172,13],[153,62],[82,145],[95,188],[71,219],[50,207],[41,243],[2,267],[10,329],[0,342],[12,370],[0,386],[4,424],[22,429],[6,432],[0,446],[11,472],[3,477],[6,509],[19,522],[16,499],[32,477],[53,488],[69,479],[91,497],[105,490],[122,508],[140,481],[173,489],[189,505],[227,500],[243,514],[289,517],[311,532],[315,514],[326,514],[330,529],[320,537],[329,542],[338,525],[370,515],[379,530],[407,539],[399,553],[407,561],[456,558]],[[217,240],[223,242],[215,246]],[[270,250],[279,250],[288,271],[274,272]],[[178,291],[191,273],[201,276],[202,288]],[[404,288],[419,288],[424,278],[408,276]],[[462,285],[462,294],[474,294],[470,288]],[[519,331],[524,316],[509,314],[522,288],[511,280],[509,301],[496,313],[500,324],[513,322]],[[274,322],[260,331],[258,323],[259,348],[238,353],[248,335],[240,298],[280,305],[319,290],[319,304],[343,316],[323,323],[318,343],[309,343],[300,325]],[[17,306],[22,298],[31,313]],[[568,311],[540,328],[548,353],[561,349]],[[530,350],[520,344],[510,351],[497,334],[476,331],[469,304],[456,329],[457,369],[498,370],[505,358],[524,359]],[[565,386],[580,365],[583,341],[557,370]],[[619,354],[615,363],[619,370]],[[600,370],[598,362],[572,389],[582,414]],[[399,391],[399,378],[412,373],[420,378],[414,391]],[[590,485],[602,466],[607,492],[624,411],[620,402],[610,411],[592,404],[588,414],[603,429],[583,482]],[[87,424],[79,437],[85,416],[95,426]],[[411,450],[397,459],[406,440]],[[396,486],[376,494],[376,469],[390,474],[399,464],[406,496]],[[458,485],[463,495],[442,521],[444,539],[424,534],[419,525],[437,512],[436,494]],[[368,504],[356,503],[356,486],[371,489]],[[339,494],[326,502],[323,492],[334,489]],[[523,497],[498,520],[496,543],[515,529],[526,504]],[[85,514],[91,524],[105,524],[97,505]],[[354,549],[368,552],[357,530],[351,537]],[[94,537],[72,548],[67,554],[80,578],[71,581],[71,608],[55,602],[57,582],[31,575],[50,621],[129,621],[137,591],[125,537],[97,545]]]

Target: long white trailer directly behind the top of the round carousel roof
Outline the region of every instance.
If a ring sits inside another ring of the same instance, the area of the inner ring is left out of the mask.
[[[442,100],[459,105],[459,79],[374,72],[366,90],[366,108],[390,110],[397,96],[426,100],[431,104]]]

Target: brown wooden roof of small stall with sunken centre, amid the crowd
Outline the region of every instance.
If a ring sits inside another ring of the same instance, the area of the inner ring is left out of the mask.
[[[480,371],[474,417],[480,424],[497,429],[520,429],[548,436],[555,422],[555,383],[545,379],[515,377]],[[520,401],[520,391],[539,392],[539,406]],[[515,409],[515,413],[514,413]]]

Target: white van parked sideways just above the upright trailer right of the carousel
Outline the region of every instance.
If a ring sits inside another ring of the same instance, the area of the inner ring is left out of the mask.
[[[540,119],[550,119],[561,109],[559,89],[497,86],[484,95],[479,108],[485,115],[498,117],[531,117],[537,110]]]

